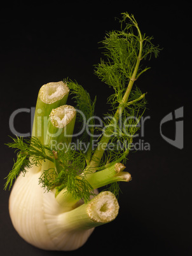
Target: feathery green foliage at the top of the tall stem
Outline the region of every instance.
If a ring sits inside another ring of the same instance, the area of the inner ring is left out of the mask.
[[[130,22],[127,23],[128,17],[130,18]],[[106,59],[101,60],[95,69],[95,74],[102,82],[109,85],[109,87],[113,87],[114,94],[109,97],[109,102],[112,106],[116,107],[121,103],[128,82],[132,78],[141,40],[139,34],[134,32],[137,22],[133,15],[129,16],[128,13],[123,13],[123,19],[120,22],[122,29],[120,31],[108,32],[106,38],[101,42]],[[125,27],[124,29],[123,26]],[[150,59],[152,53],[157,57],[160,49],[151,43],[153,37],[143,35],[142,39],[141,59],[146,59],[147,57]],[[147,69],[149,68],[139,68],[136,80]]]

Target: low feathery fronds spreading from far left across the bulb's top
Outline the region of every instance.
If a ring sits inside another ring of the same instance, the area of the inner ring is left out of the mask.
[[[85,202],[93,195],[93,188],[86,181],[86,176],[81,176],[86,166],[85,154],[72,148],[64,148],[54,152],[49,145],[41,144],[38,138],[31,139],[13,138],[13,142],[7,144],[10,148],[15,148],[17,160],[13,169],[6,177],[4,189],[13,185],[13,181],[20,173],[27,172],[27,169],[35,166],[41,166],[42,160],[55,162],[55,168],[44,169],[39,177],[39,184],[50,191],[57,188],[57,192],[64,189],[72,197],[83,199]],[[55,155],[57,154],[57,159]]]

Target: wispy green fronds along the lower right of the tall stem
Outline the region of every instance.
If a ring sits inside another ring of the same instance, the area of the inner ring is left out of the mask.
[[[144,108],[145,103],[141,103],[141,107]],[[106,134],[109,137],[106,150],[100,159],[99,168],[106,164],[114,164],[115,162],[126,163],[128,153],[132,149],[132,142],[135,134],[140,129],[140,120],[144,113],[140,111],[139,106],[126,106],[127,110],[121,113],[119,120],[115,118],[105,118],[104,128],[100,128],[102,134]],[[97,159],[95,159],[97,161]]]

